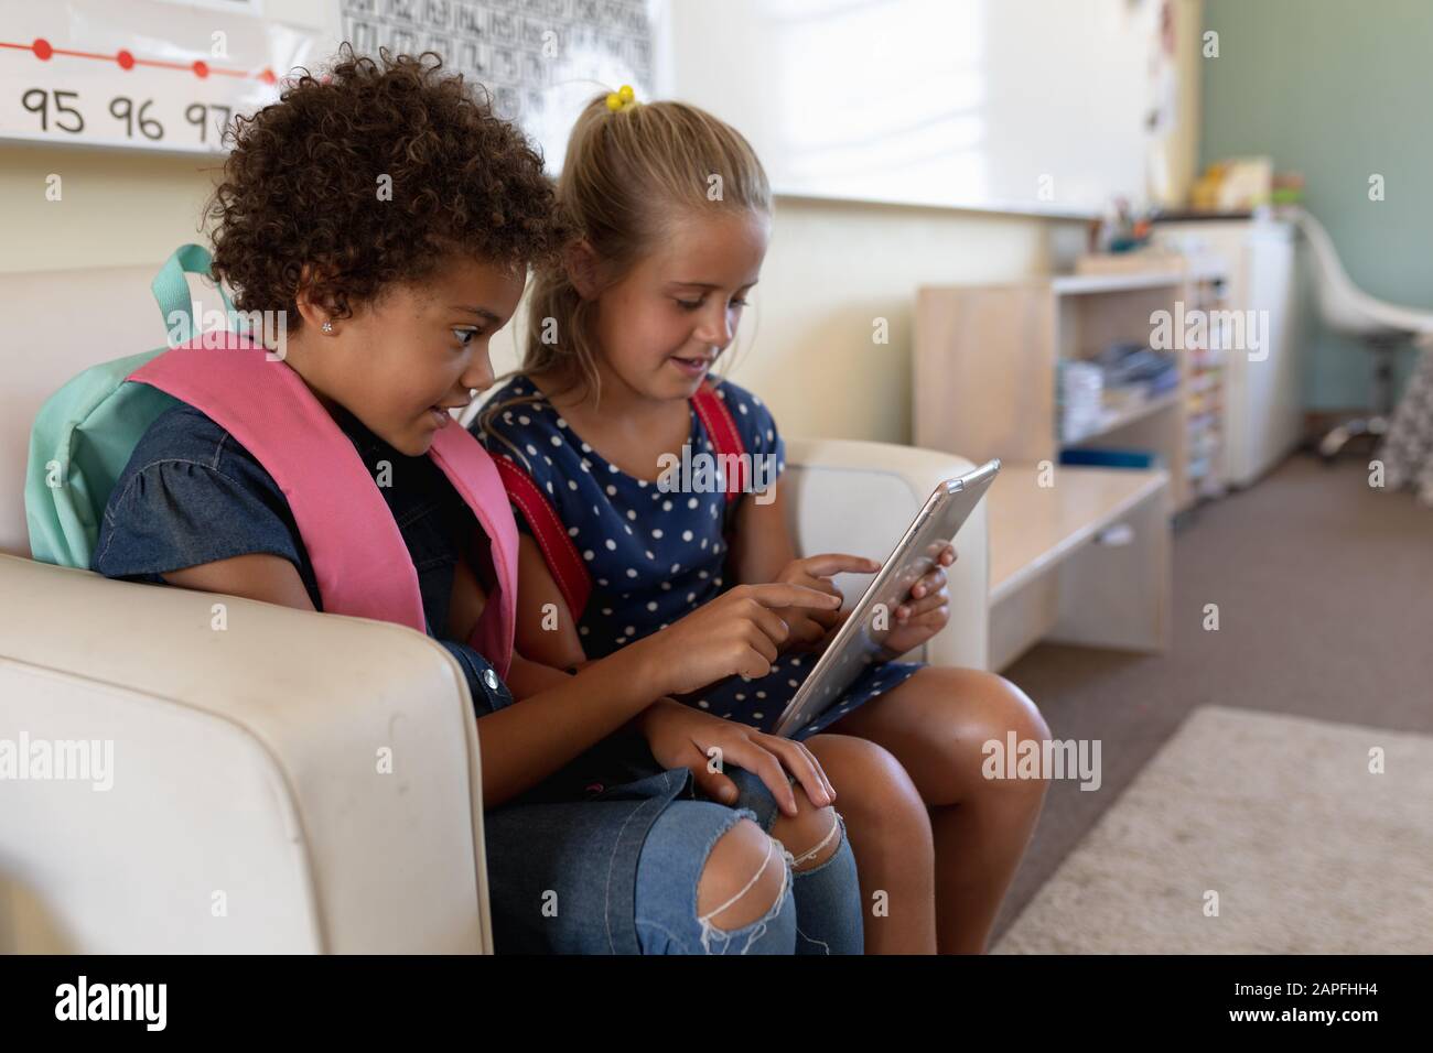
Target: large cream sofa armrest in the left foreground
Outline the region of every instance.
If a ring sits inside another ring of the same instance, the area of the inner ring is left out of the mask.
[[[30,754],[0,781],[0,951],[492,951],[436,640],[13,556],[0,595],[0,749]],[[37,776],[63,742],[100,768]]]

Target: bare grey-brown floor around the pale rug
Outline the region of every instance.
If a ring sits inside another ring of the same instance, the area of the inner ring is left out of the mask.
[[[1102,741],[1103,784],[1052,785],[992,944],[1195,706],[1433,734],[1433,510],[1366,464],[1294,454],[1195,510],[1168,653],[1039,645],[1005,669],[1055,738]]]

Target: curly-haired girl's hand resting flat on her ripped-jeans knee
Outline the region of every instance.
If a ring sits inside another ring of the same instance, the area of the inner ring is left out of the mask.
[[[696,785],[715,801],[732,804],[738,797],[737,784],[722,774],[728,764],[761,778],[787,815],[797,814],[797,797],[787,772],[797,778],[818,808],[835,799],[835,788],[815,755],[792,739],[767,735],[671,699],[648,706],[638,726],[658,764],[686,768]]]

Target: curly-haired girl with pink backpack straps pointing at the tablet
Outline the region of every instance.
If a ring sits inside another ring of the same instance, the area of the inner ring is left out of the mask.
[[[344,53],[238,120],[211,218],[216,277],[241,311],[284,312],[285,351],[189,345],[133,375],[203,397],[176,394],[140,440],[95,569],[388,620],[407,596],[477,708],[497,950],[858,953],[814,756],[732,751],[752,771],[729,769],[741,792],[718,804],[643,738],[653,699],[764,669],[771,607],[830,597],[748,589],[576,673],[513,653],[516,526],[486,451],[449,425],[493,384],[489,341],[529,265],[566,239],[523,138],[428,56]]]

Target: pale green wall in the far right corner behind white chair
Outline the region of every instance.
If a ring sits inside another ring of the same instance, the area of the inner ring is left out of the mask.
[[[1202,62],[1201,163],[1270,155],[1301,172],[1305,205],[1344,269],[1380,299],[1433,308],[1433,4],[1427,0],[1208,0],[1219,57]],[[1384,176],[1384,201],[1369,176]],[[1311,319],[1305,404],[1367,404],[1371,355]],[[1404,352],[1406,375],[1414,352]]]

